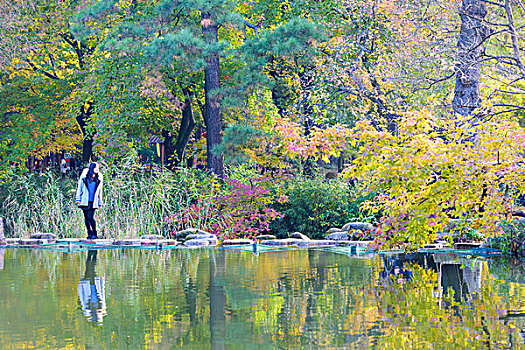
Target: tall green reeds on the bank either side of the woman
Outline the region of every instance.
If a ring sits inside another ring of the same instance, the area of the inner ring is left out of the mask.
[[[165,235],[163,219],[202,195],[199,176],[186,169],[153,175],[136,168],[108,169],[103,207],[95,214],[99,237]],[[2,184],[0,215],[6,220],[7,236],[85,236],[82,211],[75,203],[76,185],[76,179],[62,181],[51,173],[22,175]]]

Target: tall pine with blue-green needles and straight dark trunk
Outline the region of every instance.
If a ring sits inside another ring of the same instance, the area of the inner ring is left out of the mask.
[[[182,76],[188,73],[198,77],[201,72],[205,98],[201,110],[206,125],[208,168],[219,177],[224,173],[223,155],[214,150],[218,150],[222,142],[222,113],[234,108],[243,96],[266,81],[262,68],[267,59],[263,55],[269,51],[276,56],[290,55],[304,50],[315,36],[311,24],[295,20],[244,43],[235,41],[235,36],[230,34],[238,35],[244,28],[237,5],[235,1],[219,0],[206,3],[161,1],[135,3],[122,9],[108,2],[81,10],[75,24],[78,33],[87,32],[86,37],[90,37],[97,32],[96,28],[90,31],[90,26],[95,27],[93,22],[105,23],[110,14],[120,13],[119,18],[123,20],[109,32],[101,49],[115,56],[131,52],[132,55],[147,57],[149,62],[143,62],[143,67],[156,65],[163,67],[164,71],[171,70],[170,75],[175,81],[182,81]],[[283,48],[282,52],[277,52],[279,48]],[[177,69],[181,66],[184,68]],[[190,108],[191,104],[186,102],[191,101],[192,88],[200,84],[177,85],[184,95],[183,105]],[[228,101],[224,100],[226,95]],[[192,125],[190,111],[187,109],[183,113],[186,116],[183,125],[188,127]],[[187,134],[187,129],[184,134]],[[187,137],[179,137],[179,140],[182,147]]]

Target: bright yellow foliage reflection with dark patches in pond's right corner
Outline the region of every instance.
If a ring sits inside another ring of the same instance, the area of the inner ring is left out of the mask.
[[[520,289],[502,281],[484,260],[448,254],[384,255],[374,303],[384,349],[523,348]],[[521,310],[521,311],[516,311]]]

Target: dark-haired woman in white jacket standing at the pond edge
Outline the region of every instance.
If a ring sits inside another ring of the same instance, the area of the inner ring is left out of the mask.
[[[84,222],[88,232],[87,239],[97,239],[95,223],[95,209],[102,207],[103,178],[98,163],[91,163],[89,168],[82,171],[78,180],[76,201],[84,212]]]

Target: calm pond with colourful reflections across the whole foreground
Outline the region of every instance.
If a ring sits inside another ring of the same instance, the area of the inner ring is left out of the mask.
[[[0,348],[524,348],[520,261],[0,249]]]

